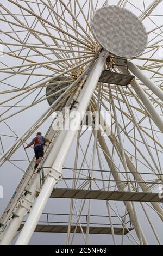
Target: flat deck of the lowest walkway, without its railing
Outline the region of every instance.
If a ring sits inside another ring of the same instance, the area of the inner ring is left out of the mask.
[[[21,224],[20,229],[18,229],[18,231],[20,231],[23,228],[24,224]],[[82,226],[83,228],[83,232],[86,233],[86,225]],[[71,233],[74,233],[76,229],[76,226],[71,226]],[[68,225],[46,225],[46,224],[38,224],[35,232],[45,232],[45,233],[67,233],[68,230]],[[123,231],[124,230],[124,231]],[[114,228],[114,233],[115,235],[126,235],[127,233],[129,233],[129,231],[133,230],[133,228],[124,228],[121,226],[119,227],[115,227]],[[82,230],[81,228],[78,226],[76,229],[76,233],[77,234],[82,234]],[[90,227],[90,231],[89,234],[108,234],[111,235],[111,228],[110,227]]]

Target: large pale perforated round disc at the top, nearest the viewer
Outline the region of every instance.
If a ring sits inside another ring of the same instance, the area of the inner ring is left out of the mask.
[[[133,58],[147,47],[146,28],[127,9],[115,5],[102,7],[96,11],[91,23],[95,39],[116,56]]]

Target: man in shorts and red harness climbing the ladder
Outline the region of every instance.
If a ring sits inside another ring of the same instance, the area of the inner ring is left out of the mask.
[[[36,169],[39,163],[41,162],[41,159],[43,157],[43,145],[45,145],[45,142],[49,142],[49,139],[42,136],[41,132],[37,132],[36,137],[33,138],[32,142],[30,142],[25,149],[30,148],[32,145],[34,145],[34,151],[35,151],[35,157],[36,157],[36,163],[34,168]]]

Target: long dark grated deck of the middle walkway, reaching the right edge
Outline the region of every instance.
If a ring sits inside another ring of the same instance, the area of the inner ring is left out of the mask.
[[[54,188],[51,198],[78,198],[114,201],[135,201],[135,202],[163,202],[158,193],[145,192],[119,192],[99,190],[75,190],[67,188]]]

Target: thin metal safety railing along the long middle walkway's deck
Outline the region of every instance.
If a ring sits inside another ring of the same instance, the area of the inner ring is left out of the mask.
[[[45,182],[45,169],[49,167],[42,167],[40,173],[40,185]],[[69,171],[69,172],[68,172]],[[76,173],[76,176],[73,174]],[[117,175],[115,179],[114,174]],[[113,178],[114,175],[114,178]],[[142,180],[137,180],[138,175]],[[119,179],[118,177],[121,177]],[[129,176],[129,180],[127,179]],[[60,188],[76,188],[79,190],[101,190],[101,191],[121,191],[127,188],[130,184],[131,191],[133,192],[151,192],[159,193],[160,186],[163,186],[163,174],[156,173],[130,173],[130,172],[111,172],[110,170],[97,170],[97,169],[74,169],[62,168],[62,179],[59,181]]]

